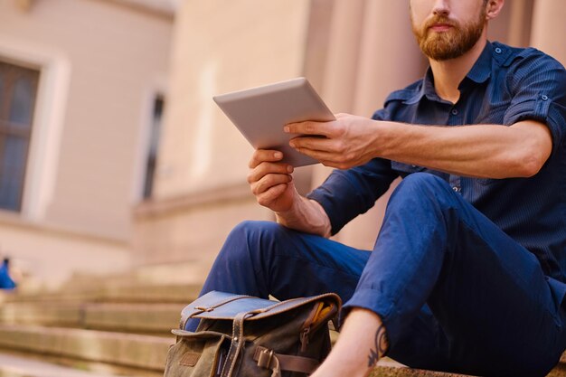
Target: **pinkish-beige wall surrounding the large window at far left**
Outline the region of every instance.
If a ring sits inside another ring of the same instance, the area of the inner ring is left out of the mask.
[[[33,4],[25,13],[0,2],[0,40],[17,46],[18,59],[40,51],[43,77],[51,62],[68,70],[66,101],[53,105],[61,124],[49,125],[59,132],[48,166],[55,179],[37,183],[51,193],[37,220],[127,240],[147,98],[165,86],[172,20],[96,0]]]

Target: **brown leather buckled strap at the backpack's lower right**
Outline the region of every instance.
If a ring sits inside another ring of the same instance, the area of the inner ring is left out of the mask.
[[[311,374],[320,364],[316,359],[274,353],[273,350],[261,346],[256,348],[253,360],[258,362],[259,367],[271,369],[271,377],[280,377],[281,371]]]

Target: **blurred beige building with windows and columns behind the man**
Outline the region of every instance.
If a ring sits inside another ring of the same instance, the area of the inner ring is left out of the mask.
[[[562,0],[506,3],[491,40],[566,62]],[[305,76],[335,113],[369,117],[425,69],[407,0],[0,0],[0,257],[16,293],[186,301],[234,225],[273,219],[213,95]],[[328,173],[297,169],[299,190]],[[335,238],[371,249],[386,200]]]

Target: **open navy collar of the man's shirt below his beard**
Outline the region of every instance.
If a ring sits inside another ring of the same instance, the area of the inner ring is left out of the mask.
[[[477,84],[481,84],[486,82],[487,79],[491,77],[491,61],[493,58],[493,45],[491,42],[486,43],[486,47],[484,47],[484,51],[479,55],[476,62],[472,66],[472,69],[467,72],[466,78],[460,82],[458,88],[462,87],[462,83],[466,81],[466,79],[472,80]],[[410,99],[405,101],[406,104],[411,105],[418,103],[420,99],[426,97],[430,100],[435,101],[443,101],[439,98],[436,90],[434,89],[434,76],[432,74],[432,70],[427,70],[424,78],[422,79],[422,84],[420,85],[420,90],[418,90],[414,96]]]

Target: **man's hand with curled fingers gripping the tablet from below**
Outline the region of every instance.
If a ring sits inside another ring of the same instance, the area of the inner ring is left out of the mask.
[[[258,149],[250,159],[248,183],[258,203],[274,212],[285,212],[300,197],[293,184],[293,166],[281,163],[283,154]]]

